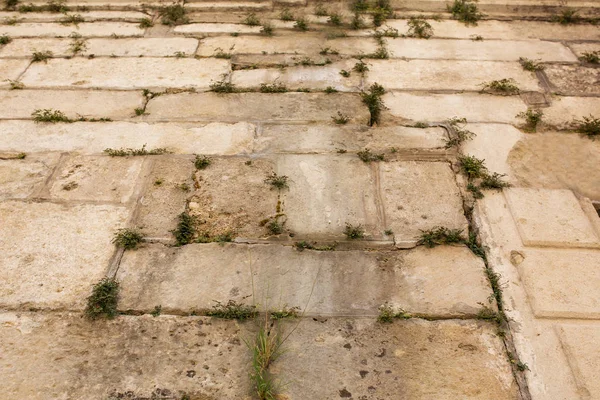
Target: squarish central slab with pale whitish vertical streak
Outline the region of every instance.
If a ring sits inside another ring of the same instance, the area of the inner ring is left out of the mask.
[[[362,225],[367,238],[383,236],[376,170],[356,155],[287,155],[277,173],[291,181],[283,212],[295,235],[343,239],[349,223]]]

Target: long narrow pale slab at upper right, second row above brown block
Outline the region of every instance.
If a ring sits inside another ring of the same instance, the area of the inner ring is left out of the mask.
[[[575,62],[577,57],[564,45],[534,40],[387,40],[393,58],[518,61],[526,57],[544,62]]]

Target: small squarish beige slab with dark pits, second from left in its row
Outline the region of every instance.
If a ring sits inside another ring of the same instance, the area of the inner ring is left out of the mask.
[[[61,200],[127,203],[143,162],[143,157],[68,157],[56,171],[49,195]]]

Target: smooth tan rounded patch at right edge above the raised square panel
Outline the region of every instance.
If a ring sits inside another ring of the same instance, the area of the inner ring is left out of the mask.
[[[508,157],[519,185],[570,189],[600,201],[600,142],[577,134],[528,134]]]

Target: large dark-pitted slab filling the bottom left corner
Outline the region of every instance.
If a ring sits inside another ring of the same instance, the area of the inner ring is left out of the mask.
[[[248,399],[251,324],[205,317],[0,314],[8,398]],[[36,349],[36,351],[32,351]],[[113,395],[113,397],[110,397]],[[125,397],[127,398],[127,397]]]

